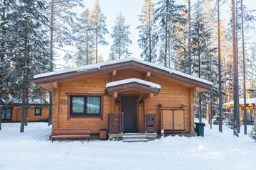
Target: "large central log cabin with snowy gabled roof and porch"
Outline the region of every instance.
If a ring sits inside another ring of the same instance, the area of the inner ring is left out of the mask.
[[[38,74],[53,92],[53,129],[123,132],[193,132],[194,94],[212,83],[128,57]]]

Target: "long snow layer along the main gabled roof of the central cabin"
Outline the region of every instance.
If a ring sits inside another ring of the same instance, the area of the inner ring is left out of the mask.
[[[188,75],[188,74],[185,74],[185,73],[177,72],[174,69],[169,69],[169,68],[166,68],[166,67],[162,67],[162,66],[159,66],[159,65],[156,65],[156,64],[153,64],[153,63],[150,63],[150,62],[146,62],[146,61],[134,58],[134,57],[127,57],[127,58],[124,58],[124,59],[121,59],[121,60],[113,60],[113,61],[110,61],[110,62],[101,62],[101,63],[90,64],[90,65],[86,65],[86,66],[82,66],[82,67],[76,67],[76,68],[71,68],[71,69],[63,69],[63,70],[60,70],[60,71],[38,74],[38,75],[34,76],[34,79],[38,79],[38,78],[42,78],[42,77],[50,77],[50,76],[54,76],[54,75],[58,75],[58,74],[66,74],[66,73],[70,73],[70,72],[86,72],[87,70],[90,70],[90,69],[100,69],[100,67],[102,67],[102,66],[107,66],[107,65],[111,65],[111,64],[118,64],[118,63],[122,63],[122,62],[129,62],[129,61],[139,62],[141,64],[146,64],[148,66],[164,70],[166,72],[169,72],[170,74],[177,74],[177,75],[180,75],[182,77],[186,77],[188,79],[193,79],[193,80],[196,80],[196,81],[200,81],[202,83],[209,84],[211,86],[213,85],[212,82],[207,81],[205,79],[200,79],[198,77],[194,77],[194,76],[191,76],[191,75]]]

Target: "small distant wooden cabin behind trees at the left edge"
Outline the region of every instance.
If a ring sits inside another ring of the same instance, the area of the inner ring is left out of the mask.
[[[49,109],[41,100],[29,100],[28,122],[48,121]],[[2,108],[2,122],[21,122],[21,100],[14,98],[6,108]]]

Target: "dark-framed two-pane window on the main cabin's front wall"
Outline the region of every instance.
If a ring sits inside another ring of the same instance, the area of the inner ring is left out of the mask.
[[[69,118],[102,118],[103,94],[67,94]]]

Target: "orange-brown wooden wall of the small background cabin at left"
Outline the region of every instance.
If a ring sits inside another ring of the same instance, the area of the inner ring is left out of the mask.
[[[9,106],[12,108],[11,113],[11,122],[20,122],[21,121],[21,106]],[[35,115],[35,108],[42,108],[41,115]],[[47,106],[35,106],[28,108],[28,121],[39,121],[47,120],[49,117],[49,109]],[[10,122],[10,120],[3,120],[3,122]]]

